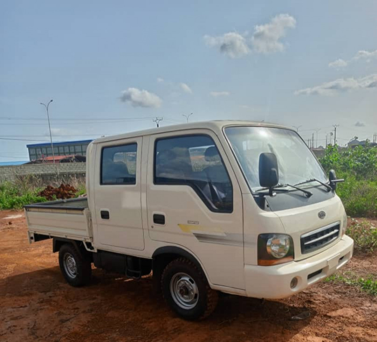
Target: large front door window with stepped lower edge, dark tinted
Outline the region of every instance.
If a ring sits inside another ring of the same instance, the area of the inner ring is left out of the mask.
[[[154,183],[191,186],[215,212],[233,211],[233,188],[215,142],[206,135],[155,143]]]

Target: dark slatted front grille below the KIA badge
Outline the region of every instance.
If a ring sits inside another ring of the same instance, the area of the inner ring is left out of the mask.
[[[310,253],[333,242],[340,232],[340,222],[301,235],[301,253]]]

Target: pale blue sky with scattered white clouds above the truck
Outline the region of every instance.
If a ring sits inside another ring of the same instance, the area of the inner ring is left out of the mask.
[[[377,133],[375,1],[0,2],[0,161],[190,121]],[[317,132],[316,132],[317,131]],[[17,140],[16,140],[17,139]],[[314,143],[316,144],[316,142]]]

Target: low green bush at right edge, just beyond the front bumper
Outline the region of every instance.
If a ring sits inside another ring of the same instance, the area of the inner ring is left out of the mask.
[[[366,219],[352,219],[346,234],[354,240],[354,248],[360,252],[373,252],[377,249],[377,229]]]

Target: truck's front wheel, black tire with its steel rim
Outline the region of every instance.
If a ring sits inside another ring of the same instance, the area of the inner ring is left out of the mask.
[[[210,288],[201,268],[186,258],[175,259],[166,266],[161,288],[167,304],[187,320],[204,319],[215,310],[218,302],[218,292]],[[178,288],[179,291],[174,290]],[[186,303],[182,300],[184,296],[192,300]]]

